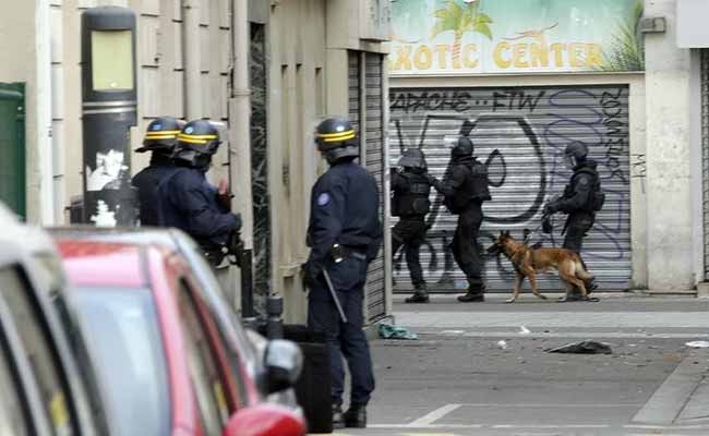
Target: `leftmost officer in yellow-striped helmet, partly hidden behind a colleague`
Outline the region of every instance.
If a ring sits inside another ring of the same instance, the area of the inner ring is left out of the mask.
[[[170,156],[183,126],[180,120],[160,117],[148,124],[143,146],[135,149],[135,153],[152,153],[149,166],[133,177],[141,205],[141,226],[159,225],[157,186],[176,169]]]

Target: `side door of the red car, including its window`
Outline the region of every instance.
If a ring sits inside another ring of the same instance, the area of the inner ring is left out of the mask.
[[[206,436],[220,436],[242,399],[226,347],[190,280],[177,284],[188,366]]]

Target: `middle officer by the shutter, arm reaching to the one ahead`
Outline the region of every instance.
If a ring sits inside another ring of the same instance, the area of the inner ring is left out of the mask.
[[[478,232],[482,225],[482,203],[491,199],[488,168],[473,156],[472,141],[460,137],[450,152],[450,175],[444,182],[429,175],[431,183],[444,196],[452,214],[458,215],[458,227],[453,238],[453,257],[468,278],[468,292],[458,301],[484,301],[482,281],[483,261],[478,246]]]

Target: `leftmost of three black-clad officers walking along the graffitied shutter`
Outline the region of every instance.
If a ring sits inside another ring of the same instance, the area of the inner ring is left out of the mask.
[[[407,303],[428,303],[429,291],[423,279],[419,252],[425,241],[425,215],[431,208],[429,194],[431,183],[426,177],[426,164],[423,152],[409,148],[404,152],[398,162],[402,171],[392,171],[392,215],[399,217],[399,222],[392,229],[392,254],[404,245],[406,264],[409,267],[413,295]]]

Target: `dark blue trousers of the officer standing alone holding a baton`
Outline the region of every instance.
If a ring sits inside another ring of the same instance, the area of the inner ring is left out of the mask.
[[[350,402],[365,405],[370,400],[370,393],[374,390],[370,346],[362,330],[366,266],[363,257],[349,256],[340,263],[331,263],[327,267],[333,287],[347,316],[347,323],[340,319],[323,275],[315,280],[308,295],[308,325],[311,329],[325,334],[329,351],[334,404],[343,403],[345,391],[343,356],[347,360],[352,377]]]

